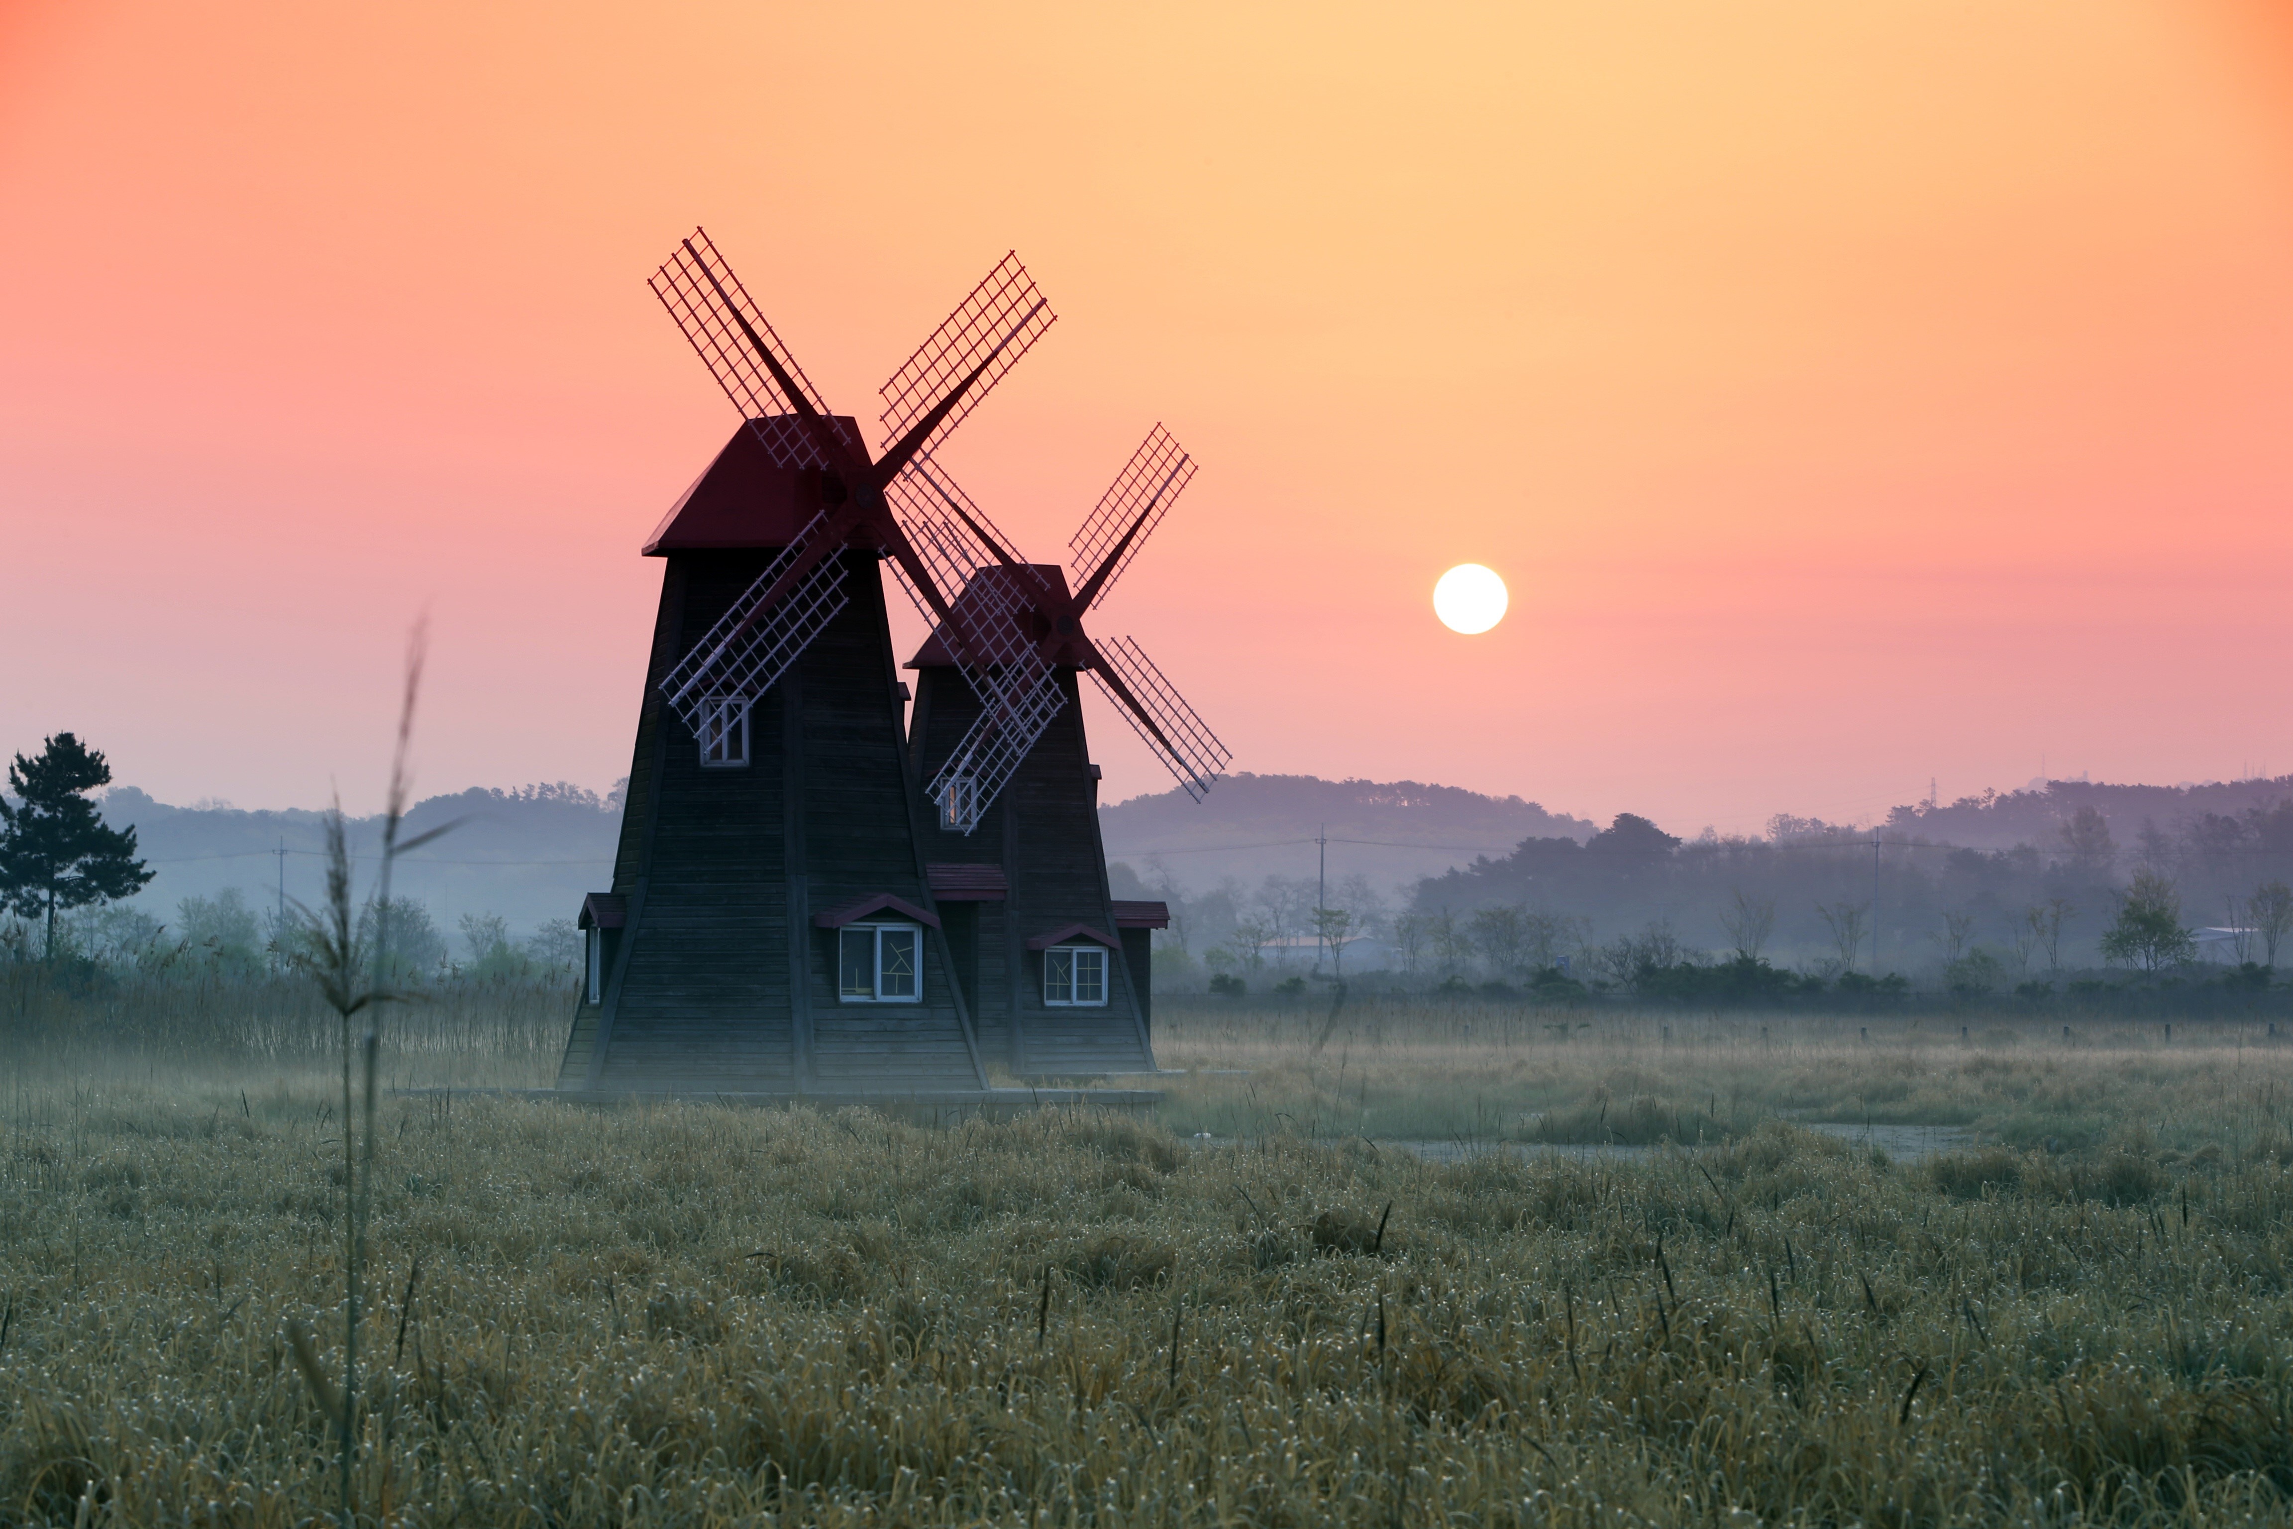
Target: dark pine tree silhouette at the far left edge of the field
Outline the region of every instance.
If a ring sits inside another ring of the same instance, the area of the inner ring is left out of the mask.
[[[71,734],[48,738],[39,759],[16,754],[7,784],[18,800],[0,798],[0,905],[44,919],[53,958],[60,910],[133,896],[154,873],[135,857],[135,830],[105,828],[87,800],[112,768]]]

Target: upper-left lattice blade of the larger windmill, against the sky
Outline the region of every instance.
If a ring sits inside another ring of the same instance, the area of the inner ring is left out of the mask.
[[[709,367],[709,376],[748,420],[748,429],[757,433],[773,465],[832,465],[819,436],[803,420],[807,408],[821,420],[830,420],[828,406],[805,369],[789,355],[789,346],[757,312],[741,277],[709,243],[706,229],[692,229],[692,238],[676,245],[649,284],[660,305],[676,319],[676,328],[683,330],[702,364]],[[782,376],[773,374],[773,364],[757,353],[757,346],[773,353]],[[828,429],[839,426],[830,420]],[[860,442],[855,440],[851,447],[858,452]]]

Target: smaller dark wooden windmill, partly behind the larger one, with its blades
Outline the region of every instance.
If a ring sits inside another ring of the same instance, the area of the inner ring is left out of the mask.
[[[931,493],[993,552],[956,598],[961,628],[1023,651],[981,690],[958,669],[942,624],[917,669],[908,745],[926,779],[926,857],[947,919],[958,986],[981,1045],[1020,1075],[1153,1068],[1153,928],[1163,903],[1117,903],[1098,837],[1098,768],[1082,731],[1078,676],[1089,674],[1126,722],[1202,800],[1231,754],[1130,637],[1094,642],[1082,617],[1105,601],[1144,539],[1195,477],[1195,461],[1156,426],[1069,541],[1075,582],[1027,564],[936,465],[903,493]],[[1009,699],[1018,695],[1018,699]]]

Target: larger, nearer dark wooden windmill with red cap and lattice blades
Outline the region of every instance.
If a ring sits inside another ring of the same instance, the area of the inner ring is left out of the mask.
[[[1025,701],[1020,635],[949,605],[984,559],[972,530],[910,479],[1055,316],[997,264],[885,383],[871,458],[706,234],[651,287],[743,424],[644,546],[660,612],[559,1087],[979,1089],[878,564],[991,713]]]

